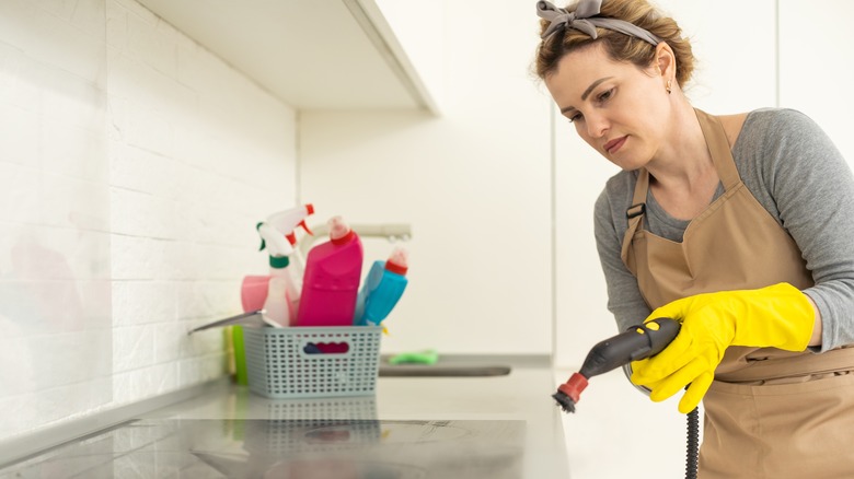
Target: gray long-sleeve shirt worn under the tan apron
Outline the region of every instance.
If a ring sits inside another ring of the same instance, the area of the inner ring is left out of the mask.
[[[807,116],[763,108],[748,114],[732,157],[745,186],[792,235],[812,273],[816,285],[804,292],[821,313],[820,350],[854,343],[854,175],[842,154]],[[637,280],[620,258],[636,179],[636,171],[611,177],[595,208],[608,308],[620,330],[650,313]],[[715,198],[723,191],[718,186]],[[670,217],[648,195],[646,230],[681,242],[688,224]]]

